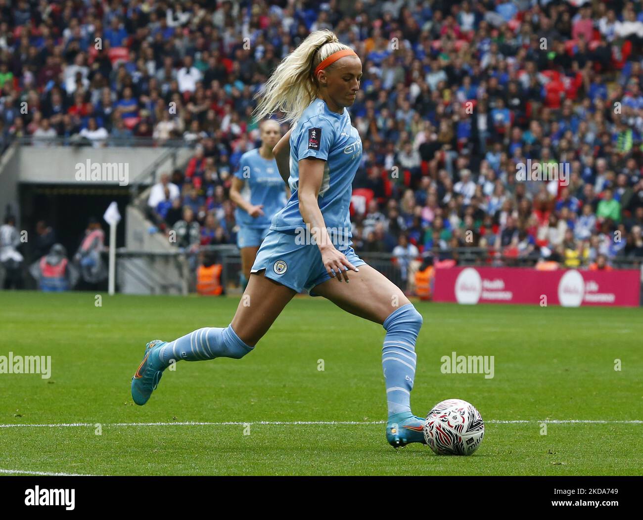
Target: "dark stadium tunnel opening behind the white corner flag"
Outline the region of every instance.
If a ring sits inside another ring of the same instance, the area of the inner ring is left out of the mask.
[[[95,217],[105,232],[105,246],[109,246],[109,224],[103,214],[116,201],[122,220],[116,228],[116,247],[125,246],[125,209],[130,201],[127,186],[78,186],[78,184],[21,184],[19,187],[21,229],[28,232],[23,254],[28,262],[35,262],[31,238],[36,235],[36,224],[44,220],[55,231],[56,241],[65,246],[68,257],[73,257],[84,236],[87,222]]]

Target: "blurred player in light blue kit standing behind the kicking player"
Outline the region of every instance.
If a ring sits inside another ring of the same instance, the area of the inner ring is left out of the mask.
[[[237,204],[237,246],[241,250],[240,282],[244,289],[259,246],[270,230],[270,222],[287,199],[284,180],[273,155],[273,148],[281,138],[281,127],[275,120],[266,120],[260,130],[261,147],[241,156],[239,170],[230,186],[230,199]]]

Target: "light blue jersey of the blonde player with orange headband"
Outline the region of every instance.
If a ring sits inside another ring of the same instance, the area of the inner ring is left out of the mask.
[[[326,227],[332,228],[332,235],[336,233],[336,237],[351,237],[350,195],[361,154],[359,132],[350,124],[347,109],[337,114],[331,112],[323,100],[314,100],[293,127],[288,179],[292,195],[285,208],[273,217],[270,229],[286,233],[305,229],[299,212],[299,161],[317,157],[325,161],[317,202]]]

